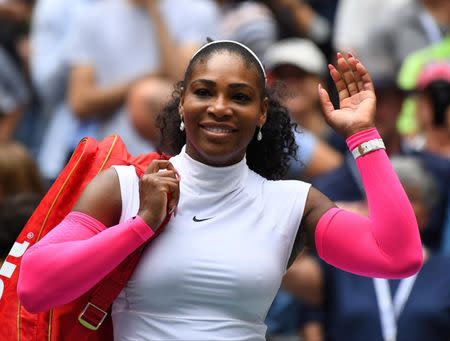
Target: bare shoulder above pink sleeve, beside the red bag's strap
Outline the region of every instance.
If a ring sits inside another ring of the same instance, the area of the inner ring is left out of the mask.
[[[86,213],[105,226],[117,224],[122,211],[117,172],[113,168],[108,168],[94,177],[84,189],[73,210]]]

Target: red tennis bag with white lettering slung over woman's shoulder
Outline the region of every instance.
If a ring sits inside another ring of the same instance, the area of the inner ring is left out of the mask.
[[[31,245],[70,212],[83,189],[99,172],[112,165],[134,165],[141,176],[152,160],[161,158],[157,153],[131,156],[116,135],[100,142],[92,138],[80,141],[0,268],[1,341],[113,340],[110,307],[137,265],[142,248],[82,297],[39,314],[27,312],[18,300],[16,290],[20,260]]]

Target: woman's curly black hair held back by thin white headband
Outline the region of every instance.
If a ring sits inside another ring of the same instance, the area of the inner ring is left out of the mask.
[[[266,123],[261,129],[263,139],[257,141],[257,130],[250,141],[246,159],[251,170],[269,180],[283,178],[292,158],[296,157],[297,145],[293,134],[289,112],[282,106],[274,93],[266,88],[265,74],[255,56],[247,49],[233,42],[216,42],[201,48],[191,59],[183,81],[180,81],[172,93],[171,100],[157,117],[161,130],[160,148],[168,154],[178,154],[186,143],[186,133],[179,129],[181,118],[178,111],[180,96],[186,88],[192,71],[198,63],[204,63],[212,54],[228,52],[236,54],[258,73],[261,98],[268,98]]]

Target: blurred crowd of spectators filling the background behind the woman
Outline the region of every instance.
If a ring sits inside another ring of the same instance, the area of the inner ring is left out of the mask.
[[[383,287],[397,340],[450,340],[449,0],[0,0],[0,258],[82,137],[116,133],[132,154],[170,154],[156,116],[207,38],[261,58],[297,123],[287,178],[367,214],[354,159],[317,92],[331,84],[337,52],[361,60],[424,242],[409,289],[304,250],[268,313],[268,339],[386,341]]]

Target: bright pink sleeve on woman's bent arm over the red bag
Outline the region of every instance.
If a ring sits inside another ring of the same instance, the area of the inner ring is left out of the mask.
[[[23,256],[17,292],[31,313],[83,295],[154,236],[139,216],[106,228],[71,212]]]

